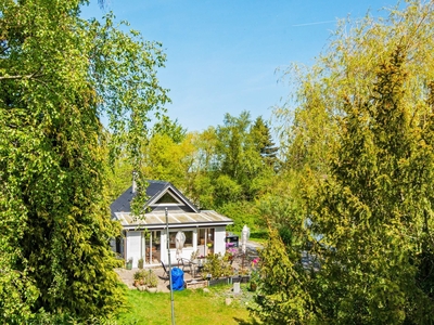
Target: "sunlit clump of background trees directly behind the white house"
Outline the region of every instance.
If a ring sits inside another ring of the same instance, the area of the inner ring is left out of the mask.
[[[142,151],[141,171],[170,181],[201,209],[233,218],[234,230],[259,227],[254,199],[276,182],[277,150],[268,125],[261,117],[252,123],[248,112],[226,114],[224,125],[201,133],[184,133],[163,118]]]

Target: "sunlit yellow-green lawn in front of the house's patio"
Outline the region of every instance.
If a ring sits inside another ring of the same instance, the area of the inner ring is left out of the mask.
[[[250,316],[246,306],[252,294],[242,286],[242,294],[234,297],[231,286],[174,292],[175,321],[177,324],[242,324],[257,323]],[[126,288],[127,306],[118,315],[117,324],[171,324],[170,294],[150,294]],[[226,299],[232,299],[227,306]]]

